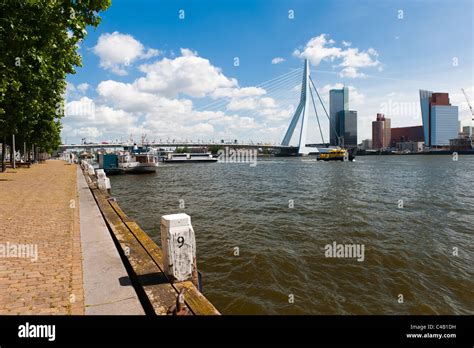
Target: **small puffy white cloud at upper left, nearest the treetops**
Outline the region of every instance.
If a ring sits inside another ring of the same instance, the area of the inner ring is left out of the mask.
[[[145,50],[133,36],[117,31],[99,37],[93,51],[100,58],[100,66],[117,75],[127,75],[126,67],[138,59],[148,59],[159,55],[156,49]]]

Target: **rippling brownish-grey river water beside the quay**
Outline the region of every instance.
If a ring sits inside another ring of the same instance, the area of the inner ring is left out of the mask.
[[[158,243],[161,215],[191,216],[203,292],[224,314],[474,314],[473,179],[474,156],[366,156],[163,165],[111,183]],[[326,258],[334,241],[363,244],[364,261]]]

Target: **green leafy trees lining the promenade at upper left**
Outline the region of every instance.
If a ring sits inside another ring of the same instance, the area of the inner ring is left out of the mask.
[[[0,142],[51,152],[60,145],[66,75],[81,66],[87,26],[110,0],[0,0]]]

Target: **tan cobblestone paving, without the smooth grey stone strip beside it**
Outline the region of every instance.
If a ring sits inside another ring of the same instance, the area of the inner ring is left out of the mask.
[[[0,314],[84,314],[76,167],[0,173]]]

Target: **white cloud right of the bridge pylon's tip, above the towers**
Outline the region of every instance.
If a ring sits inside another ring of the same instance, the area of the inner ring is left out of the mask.
[[[377,59],[378,52],[369,48],[361,51],[355,47],[349,47],[350,42],[342,41],[344,48],[333,46],[334,40],[328,40],[327,34],[311,38],[302,50],[296,49],[293,55],[299,58],[309,59],[312,65],[317,66],[322,61],[337,61],[336,66],[342,67],[340,72],[342,77],[365,77],[365,74],[359,72],[360,68],[380,67],[381,63]]]

